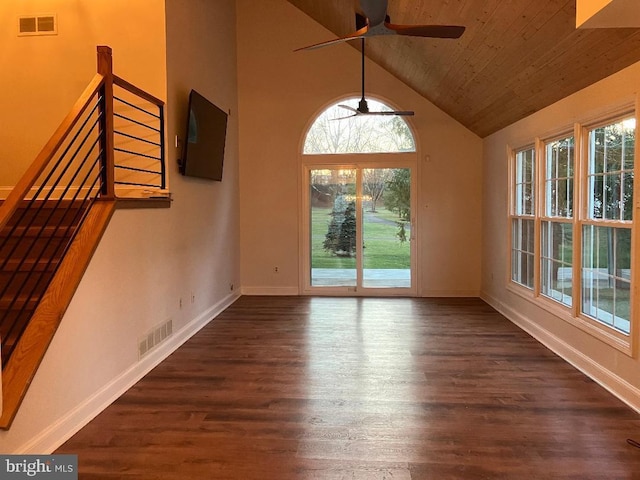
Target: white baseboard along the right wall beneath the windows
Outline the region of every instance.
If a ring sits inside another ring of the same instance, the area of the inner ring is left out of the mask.
[[[581,351],[575,349],[549,331],[541,328],[538,324],[515,311],[511,307],[505,305],[498,299],[487,294],[482,294],[480,298],[542,343],[549,350],[566,360],[568,363],[591,378],[594,382],[608,390],[611,394],[622,400],[636,412],[640,413],[640,389],[631,385],[611,370],[604,368]]]

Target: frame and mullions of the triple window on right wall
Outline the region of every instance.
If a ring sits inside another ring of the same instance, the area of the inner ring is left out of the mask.
[[[631,229],[631,265],[636,265],[637,252],[640,251],[640,235],[636,233],[636,227],[633,221],[619,221],[610,219],[592,219],[589,218],[589,185],[588,185],[588,162],[589,162],[589,131],[601,126],[610,125],[618,121],[623,121],[626,118],[633,117],[637,121],[637,111],[635,104],[624,104],[617,108],[611,108],[608,114],[601,115],[599,118],[591,118],[588,121],[582,123],[576,123],[573,128],[574,137],[574,171],[573,171],[573,189],[574,189],[574,201],[573,201],[573,218],[563,219],[562,217],[553,217],[546,215],[545,210],[545,198],[546,198],[546,184],[545,184],[545,169],[546,169],[546,144],[557,139],[566,138],[571,136],[570,128],[563,128],[556,130],[555,134],[549,134],[541,139],[536,137],[534,139],[535,151],[536,151],[536,176],[535,176],[535,212],[534,212],[534,224],[535,224],[535,252],[534,252],[534,281],[533,288],[527,288],[522,284],[512,280],[513,269],[513,220],[518,218],[516,214],[516,154],[519,151],[531,148],[531,143],[524,143],[523,147],[512,148],[507,147],[508,160],[509,160],[509,205],[508,205],[508,248],[509,259],[507,262],[506,272],[506,286],[510,291],[518,294],[519,296],[535,303],[536,305],[544,308],[553,315],[560,319],[580,328],[581,330],[589,333],[590,335],[598,338],[616,348],[617,350],[625,353],[626,355],[636,357],[638,355],[638,336],[640,334],[640,327],[638,323],[638,314],[640,312],[640,300],[638,295],[631,295],[630,301],[630,329],[629,333],[625,334],[610,325],[603,323],[590,315],[583,313],[582,310],[582,237],[583,229],[586,225],[597,226],[610,226],[630,228]],[[638,124],[636,123],[636,135],[638,131]],[[638,176],[637,171],[640,171],[640,146],[638,141],[635,142],[634,152],[634,172],[636,172],[636,178]],[[637,166],[637,167],[636,167]],[[633,185],[634,203],[633,209],[635,210],[640,206],[640,181],[635,181]],[[636,212],[637,213],[637,212]],[[529,217],[527,217],[529,218]],[[573,225],[573,256],[572,256],[572,302],[571,305],[562,304],[558,299],[550,298],[547,295],[542,294],[541,275],[542,275],[542,223],[546,221],[560,221],[562,223],[570,223]],[[640,281],[640,268],[632,268],[630,272],[631,276],[631,291],[635,288],[634,285]],[[628,276],[625,275],[625,280],[628,280]]]

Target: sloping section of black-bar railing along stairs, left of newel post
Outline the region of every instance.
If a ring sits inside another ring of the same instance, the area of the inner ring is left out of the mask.
[[[10,358],[91,204],[104,168],[104,82],[0,230],[0,338]]]

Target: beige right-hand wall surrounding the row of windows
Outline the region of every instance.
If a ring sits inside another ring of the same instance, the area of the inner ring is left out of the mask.
[[[594,379],[640,409],[640,361],[597,340],[506,289],[508,283],[507,146],[520,147],[575,122],[634,101],[640,63],[612,75],[484,140],[483,297]],[[636,329],[637,330],[637,329]],[[636,339],[637,341],[638,339]]]

